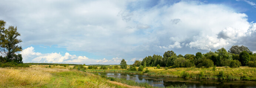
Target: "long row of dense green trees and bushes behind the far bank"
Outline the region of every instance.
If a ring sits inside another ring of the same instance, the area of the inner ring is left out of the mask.
[[[174,51],[166,51],[163,56],[153,55],[146,56],[142,61],[136,60],[133,66],[143,67],[213,67],[213,66],[229,66],[240,67],[249,66],[256,67],[256,54],[252,53],[245,46],[233,45],[229,51],[220,48],[215,52],[209,51],[206,54],[197,52],[196,55],[185,54],[177,55]]]

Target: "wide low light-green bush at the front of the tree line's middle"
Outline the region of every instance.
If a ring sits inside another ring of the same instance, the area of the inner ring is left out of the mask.
[[[191,63],[188,59],[185,58],[177,58],[176,60],[174,60],[174,68],[177,67],[192,67],[194,66],[193,63]]]

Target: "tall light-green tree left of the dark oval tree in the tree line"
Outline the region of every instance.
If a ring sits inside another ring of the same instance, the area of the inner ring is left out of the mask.
[[[217,66],[229,66],[230,61],[232,60],[232,54],[226,51],[225,48],[220,48],[217,50],[217,54],[219,55],[217,57]]]

